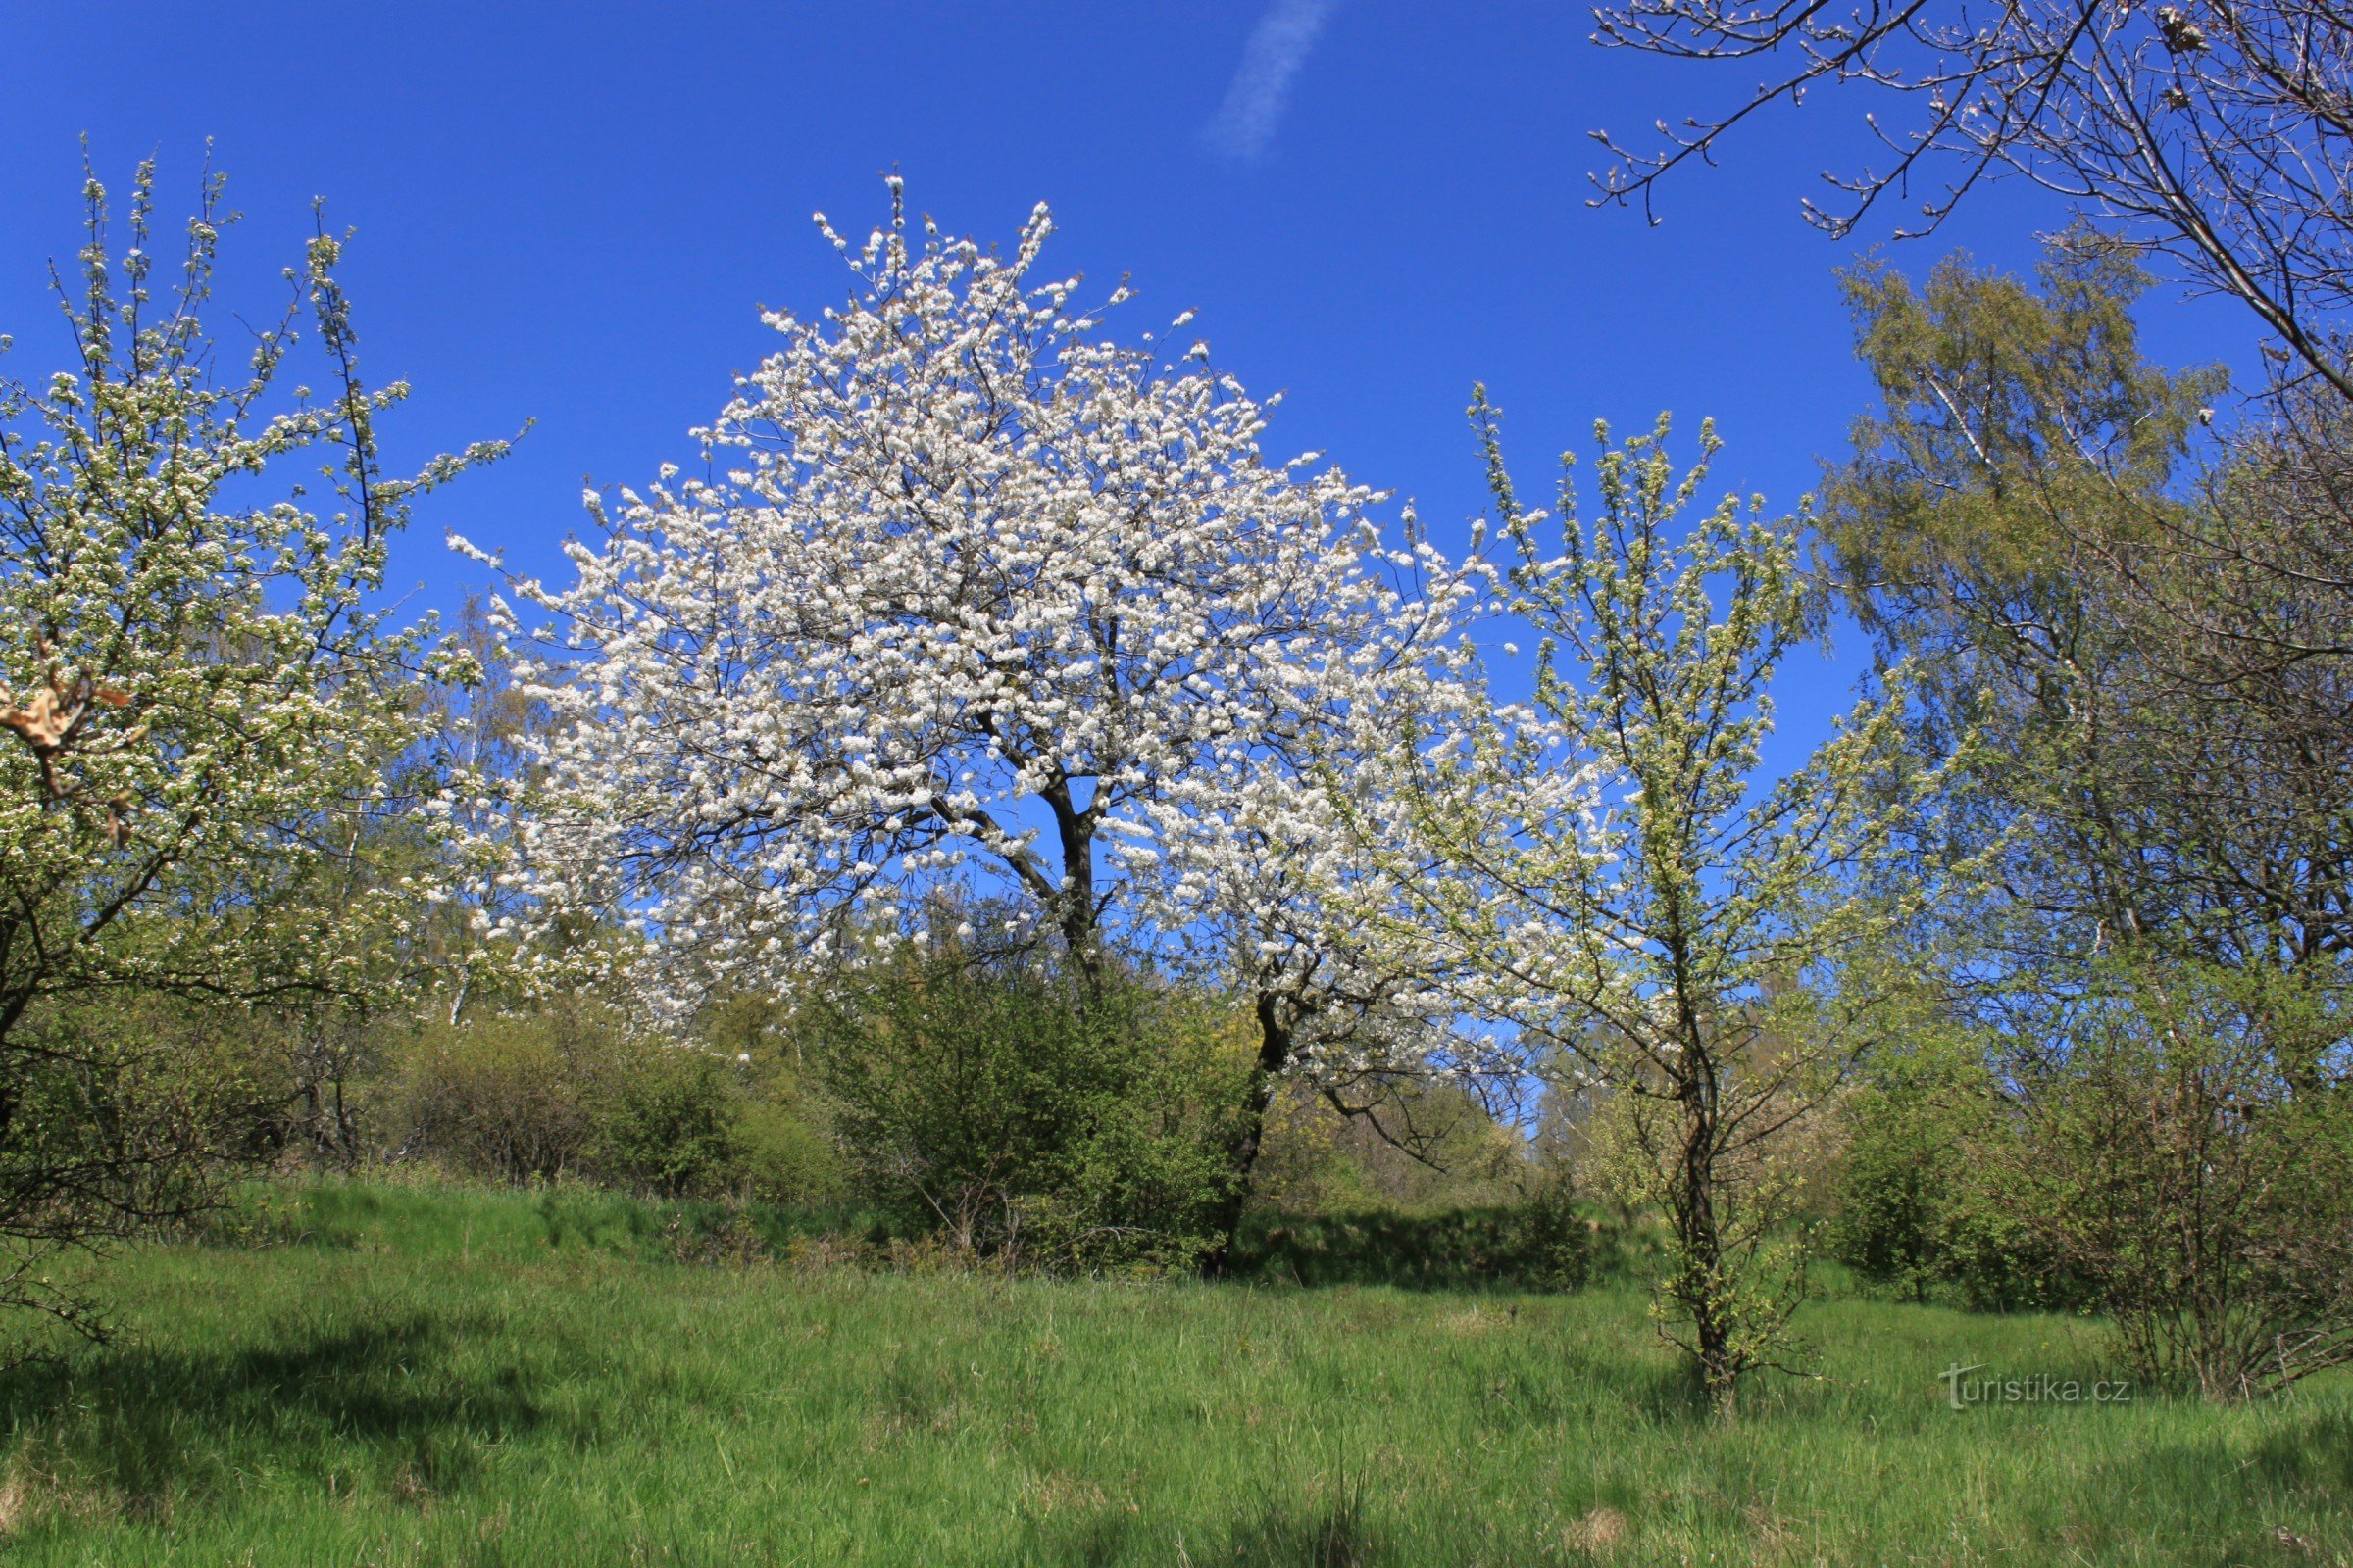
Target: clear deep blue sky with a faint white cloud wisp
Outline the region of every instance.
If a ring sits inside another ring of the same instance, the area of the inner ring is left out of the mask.
[[[1647,228],[1586,207],[1586,132],[1680,118],[1755,73],[1586,33],[1584,7],[1468,0],[19,0],[0,7],[0,331],[16,376],[64,357],[42,287],[78,244],[82,134],[115,186],[160,155],[167,212],[214,141],[247,214],[228,292],[249,306],[325,195],[358,228],[365,369],[414,383],[395,456],[536,421],[395,557],[421,604],[447,607],[485,576],[442,529],[553,569],[584,477],[642,482],[689,456],[685,430],[769,346],[755,306],[845,292],[809,212],[864,233],[896,169],[915,207],[984,237],[1052,202],[1056,270],[1129,273],[1132,331],[1198,308],[1224,367],[1289,393],[1275,447],[1417,496],[1442,543],[1480,505],[1473,381],[1504,404],[1527,487],[1595,416],[1673,409],[1685,430],[1718,418],[1725,487],[1793,503],[1866,400],[1831,273],[1880,235],[1833,244],[1798,214],[1859,150],[1859,103],[1817,94],[1772,120],[1673,183]],[[1998,188],[1894,254],[1920,270],[1967,244],[2024,268],[2061,219]],[[2174,362],[2245,357],[2245,324],[2212,301],[2160,294],[2144,317]],[[1798,712],[1845,684],[1798,677]]]

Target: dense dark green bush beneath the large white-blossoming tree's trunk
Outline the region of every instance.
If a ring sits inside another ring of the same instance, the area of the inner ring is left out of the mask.
[[[1247,1034],[1106,971],[908,954],[809,1016],[864,1187],[1009,1265],[1191,1267],[1217,1241]]]

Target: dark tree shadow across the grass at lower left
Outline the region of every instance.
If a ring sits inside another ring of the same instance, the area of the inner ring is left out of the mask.
[[[520,1368],[468,1375],[452,1363],[464,1333],[499,1328],[409,1312],[292,1324],[238,1352],[94,1347],[0,1375],[0,1429],[19,1465],[113,1493],[132,1516],[256,1469],[421,1502],[468,1486],[487,1443],[546,1420]]]

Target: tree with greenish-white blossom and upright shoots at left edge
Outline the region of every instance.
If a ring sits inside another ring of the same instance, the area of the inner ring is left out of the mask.
[[[431,649],[374,602],[384,550],[419,494],[499,451],[384,473],[374,423],[407,388],[360,383],[325,230],[219,381],[219,190],[207,174],[158,296],[153,167],[120,256],[92,179],[80,282],[59,282],[73,364],[0,381],[0,1302],[68,1314],[45,1251],[167,1208],[200,1152],[179,1110],[108,1100],[169,1074],[80,1004],[346,997],[384,973],[348,940],[367,900],[308,896],[398,804],[384,764],[416,733]],[[327,393],[273,397],[304,317]],[[299,482],[259,489],[304,454],[327,458],[327,517]]]

